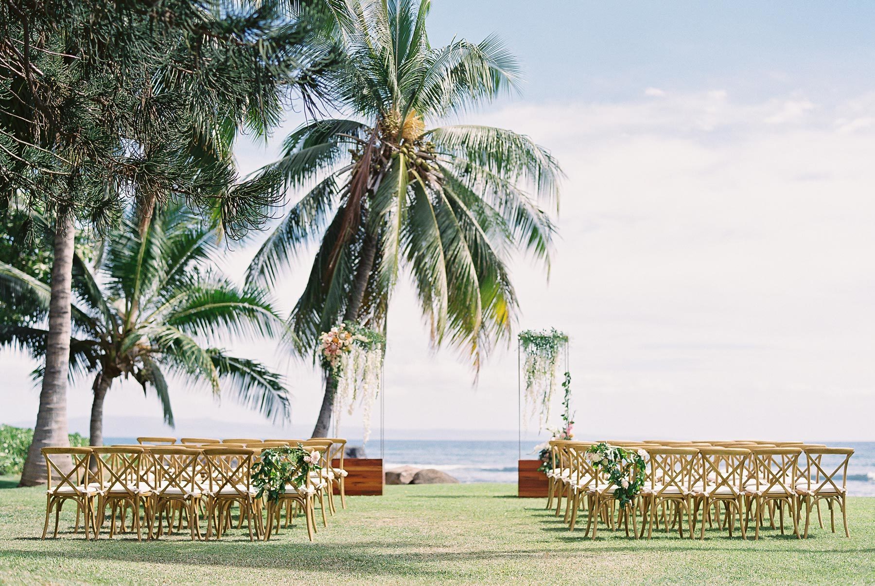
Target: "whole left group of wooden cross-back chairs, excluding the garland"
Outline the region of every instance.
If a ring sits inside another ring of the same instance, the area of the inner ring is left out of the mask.
[[[231,507],[238,508],[238,527],[244,519],[249,538],[269,539],[279,530],[285,507],[285,525],[298,511],[304,513],[308,537],[316,531],[315,503],[318,500],[323,525],[327,526],[325,510],[332,515],[334,489],[340,492],[341,506],[346,508],[343,453],[346,441],[339,438],[276,441],[218,441],[207,438],[137,438],[137,445],[116,445],[93,448],[44,448],[48,487],[43,539],[48,532],[51,512],[55,512],[54,536],[59,530],[61,507],[67,501],[76,505],[75,532],[84,515],[85,536],[89,529],[97,539],[105,523],[107,508],[111,508],[109,536],[116,532],[116,514],[121,518],[130,512],[130,528],[142,539],[145,524],[150,539],[172,533],[174,524],[181,530],[184,520],[192,539],[201,539],[201,515],[207,519],[206,539],[221,534],[231,526]],[[278,500],[257,498],[252,473],[260,461],[262,450],[284,446],[301,446],[312,458],[312,466],[290,462],[297,466],[292,477],[306,479],[300,485],[287,484]],[[311,468],[303,475],[303,468]],[[302,476],[303,475],[303,476]],[[327,504],[327,505],[326,505]],[[141,509],[143,522],[141,523]],[[262,513],[267,512],[267,524]],[[175,519],[179,517],[179,522]],[[157,525],[157,527],[156,527]]]

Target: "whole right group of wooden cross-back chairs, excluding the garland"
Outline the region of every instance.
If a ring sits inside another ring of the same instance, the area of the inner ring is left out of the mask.
[[[643,537],[645,530],[650,538],[661,519],[667,532],[676,527],[682,537],[684,526],[692,537],[701,522],[701,539],[705,525],[713,526],[715,521],[720,529],[728,527],[732,537],[736,519],[746,539],[753,520],[759,539],[767,518],[773,528],[777,520],[784,533],[785,511],[795,535],[808,537],[814,509],[823,528],[822,502],[830,508],[833,532],[836,506],[842,512],[845,535],[850,536],[846,482],[852,448],[802,441],[605,441],[609,448],[631,450],[646,462],[641,493],[620,507],[614,495],[617,487],[588,455],[598,443],[602,442],[550,441],[547,472],[547,508],[556,499],[556,516],[560,516],[564,501],[564,519],[572,531],[578,512],[586,512],[585,533],[591,531],[593,539],[599,522],[614,529],[624,524],[628,535],[630,520],[636,538]],[[631,459],[626,465],[625,476],[635,479],[639,470]]]

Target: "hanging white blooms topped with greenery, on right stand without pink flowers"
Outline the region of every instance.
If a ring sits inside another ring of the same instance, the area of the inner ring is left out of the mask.
[[[538,428],[549,420],[550,402],[556,390],[556,368],[562,349],[568,345],[568,336],[556,328],[528,329],[519,335],[520,349],[525,360],[526,420],[538,413]]]

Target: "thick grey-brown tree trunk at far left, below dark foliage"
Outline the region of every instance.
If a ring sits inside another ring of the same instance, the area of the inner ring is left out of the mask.
[[[25,459],[21,486],[44,484],[47,446],[69,446],[66,427],[66,377],[70,362],[70,296],[73,281],[73,215],[59,215],[55,225],[52,261],[52,297],[49,300],[49,331],[45,340],[45,375],[39,392],[37,424]],[[66,464],[72,467],[72,462]],[[63,467],[63,463],[61,463]]]

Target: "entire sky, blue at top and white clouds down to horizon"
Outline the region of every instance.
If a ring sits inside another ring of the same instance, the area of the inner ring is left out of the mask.
[[[432,44],[497,32],[525,67],[522,95],[462,119],[528,134],[568,175],[549,282],[525,258],[510,266],[514,333],[571,336],[582,438],[875,439],[872,30],[875,3],[863,2],[435,1]],[[297,121],[267,146],[241,141],[242,171],[273,159]],[[223,265],[242,275],[262,238]],[[305,274],[298,265],[276,285],[280,307]],[[318,373],[269,345],[228,346],[283,371],[293,424],[309,431]],[[19,392],[32,364],[0,361],[0,392],[17,398],[0,420],[32,421],[38,393]],[[387,427],[514,430],[515,371],[513,347],[500,349],[472,387],[454,351],[430,351],[401,284]],[[70,392],[74,427],[87,425],[89,386]],[[179,434],[263,425],[202,392],[173,400]],[[603,415],[624,407],[619,423]],[[164,433],[136,385],[111,392],[105,409],[107,435]],[[357,417],[342,433],[359,434]]]

